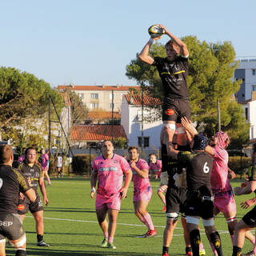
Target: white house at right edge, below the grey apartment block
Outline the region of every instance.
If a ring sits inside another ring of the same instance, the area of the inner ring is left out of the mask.
[[[256,91],[251,92],[251,98],[241,102],[245,110],[246,120],[250,122],[250,142],[256,142]]]

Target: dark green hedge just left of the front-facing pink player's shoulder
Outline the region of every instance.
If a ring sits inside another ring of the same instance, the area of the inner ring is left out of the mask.
[[[72,159],[72,172],[75,174],[90,174],[90,161],[95,158],[94,154],[77,154]]]

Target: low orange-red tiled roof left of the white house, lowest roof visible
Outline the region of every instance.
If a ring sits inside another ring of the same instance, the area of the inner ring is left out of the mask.
[[[125,130],[122,126],[113,126],[114,139],[126,138]],[[71,141],[103,141],[112,139],[111,125],[78,125],[71,130]]]

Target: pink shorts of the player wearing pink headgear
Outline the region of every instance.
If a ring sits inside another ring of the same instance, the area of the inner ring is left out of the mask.
[[[233,191],[214,193],[214,207],[218,208],[223,214],[237,212]]]

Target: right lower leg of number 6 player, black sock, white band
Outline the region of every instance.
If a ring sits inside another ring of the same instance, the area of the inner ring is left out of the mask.
[[[222,256],[222,242],[214,226],[214,218],[202,219],[202,224],[205,227],[206,233],[209,234],[210,242],[213,244],[214,249],[218,256]]]

